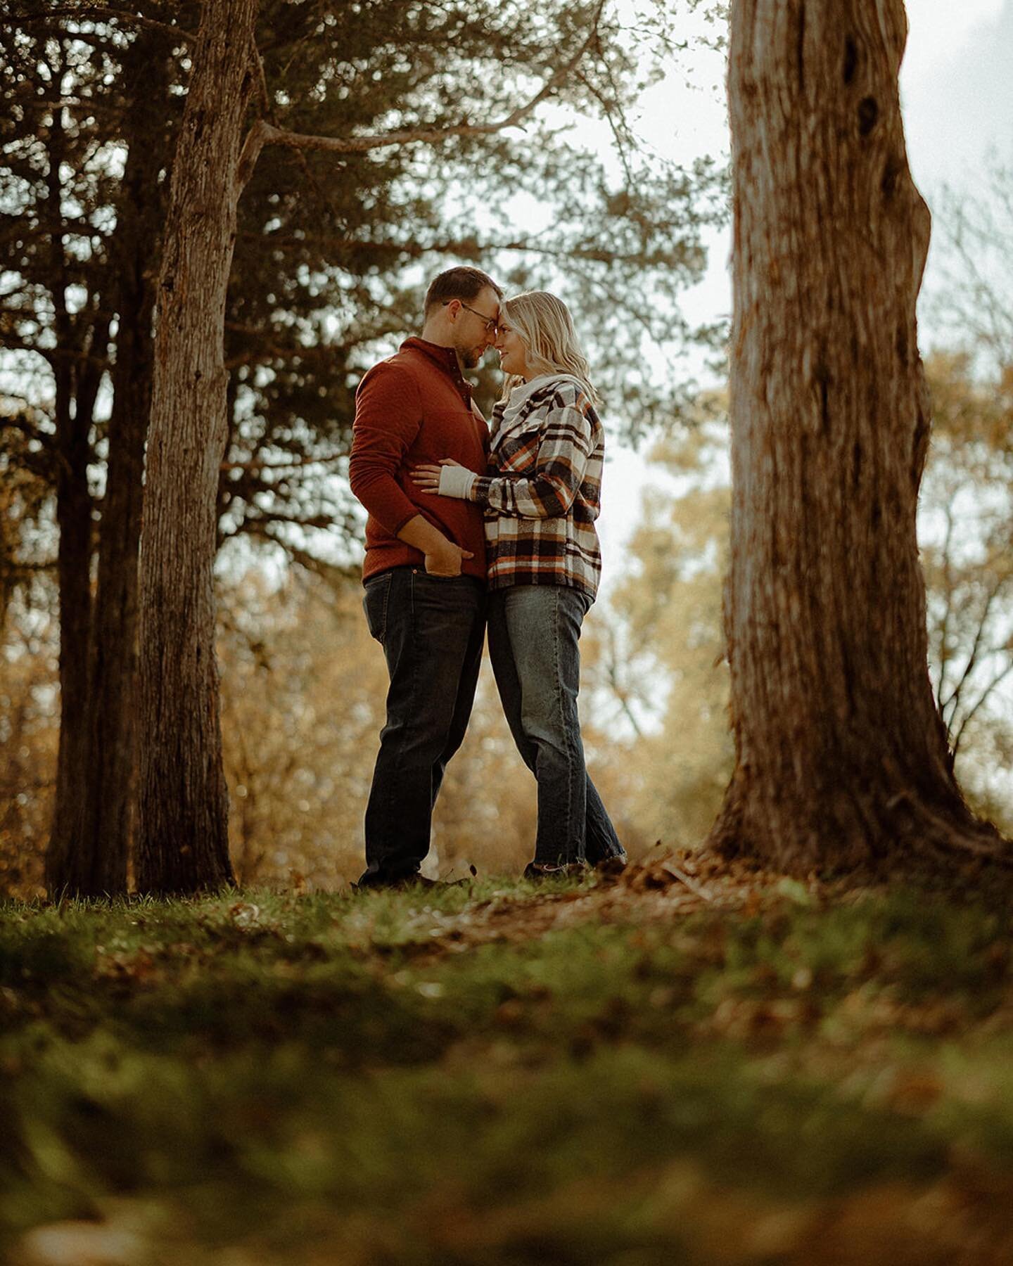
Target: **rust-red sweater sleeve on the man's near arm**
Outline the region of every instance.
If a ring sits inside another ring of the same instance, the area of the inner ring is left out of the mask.
[[[385,362],[370,370],[356,394],[348,481],[393,537],[419,513],[396,476],[420,425],[419,390],[412,376]]]

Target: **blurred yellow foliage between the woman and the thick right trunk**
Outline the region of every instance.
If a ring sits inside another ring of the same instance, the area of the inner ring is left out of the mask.
[[[722,395],[703,400],[694,427],[653,449],[666,486],[645,489],[629,565],[591,632],[591,680],[636,734],[638,827],[684,847],[707,836],[732,770],[723,410]]]

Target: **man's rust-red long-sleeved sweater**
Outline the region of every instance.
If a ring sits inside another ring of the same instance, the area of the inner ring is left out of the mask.
[[[422,514],[450,541],[471,551],[474,557],[463,560],[462,572],[485,580],[481,509],[472,501],[423,492],[409,472],[423,462],[452,457],[485,475],[488,456],[489,428],[472,408],[471,385],[453,348],[409,338],[395,356],[375,365],[356,392],[348,462],[352,492],[370,511],[362,579],[389,567],[424,565],[419,549],[398,539],[405,523]]]

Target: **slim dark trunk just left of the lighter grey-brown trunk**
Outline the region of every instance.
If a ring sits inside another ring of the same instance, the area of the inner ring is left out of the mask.
[[[165,109],[163,43],[161,33],[142,34],[125,67],[128,156],[111,252],[119,289],[116,363],[89,656],[87,776],[68,867],[68,884],[81,895],[127,890],[135,774],[138,546],[153,367],[152,268],[163,210],[158,173],[166,162],[165,146],[157,143],[165,132],[152,128],[149,103],[154,110]]]

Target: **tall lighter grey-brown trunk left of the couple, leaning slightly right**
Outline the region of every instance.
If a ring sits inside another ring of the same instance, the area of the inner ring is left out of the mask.
[[[204,6],[173,162],[141,542],[141,891],[232,879],[211,568],[227,432],[225,291],[256,13],[257,0]]]

